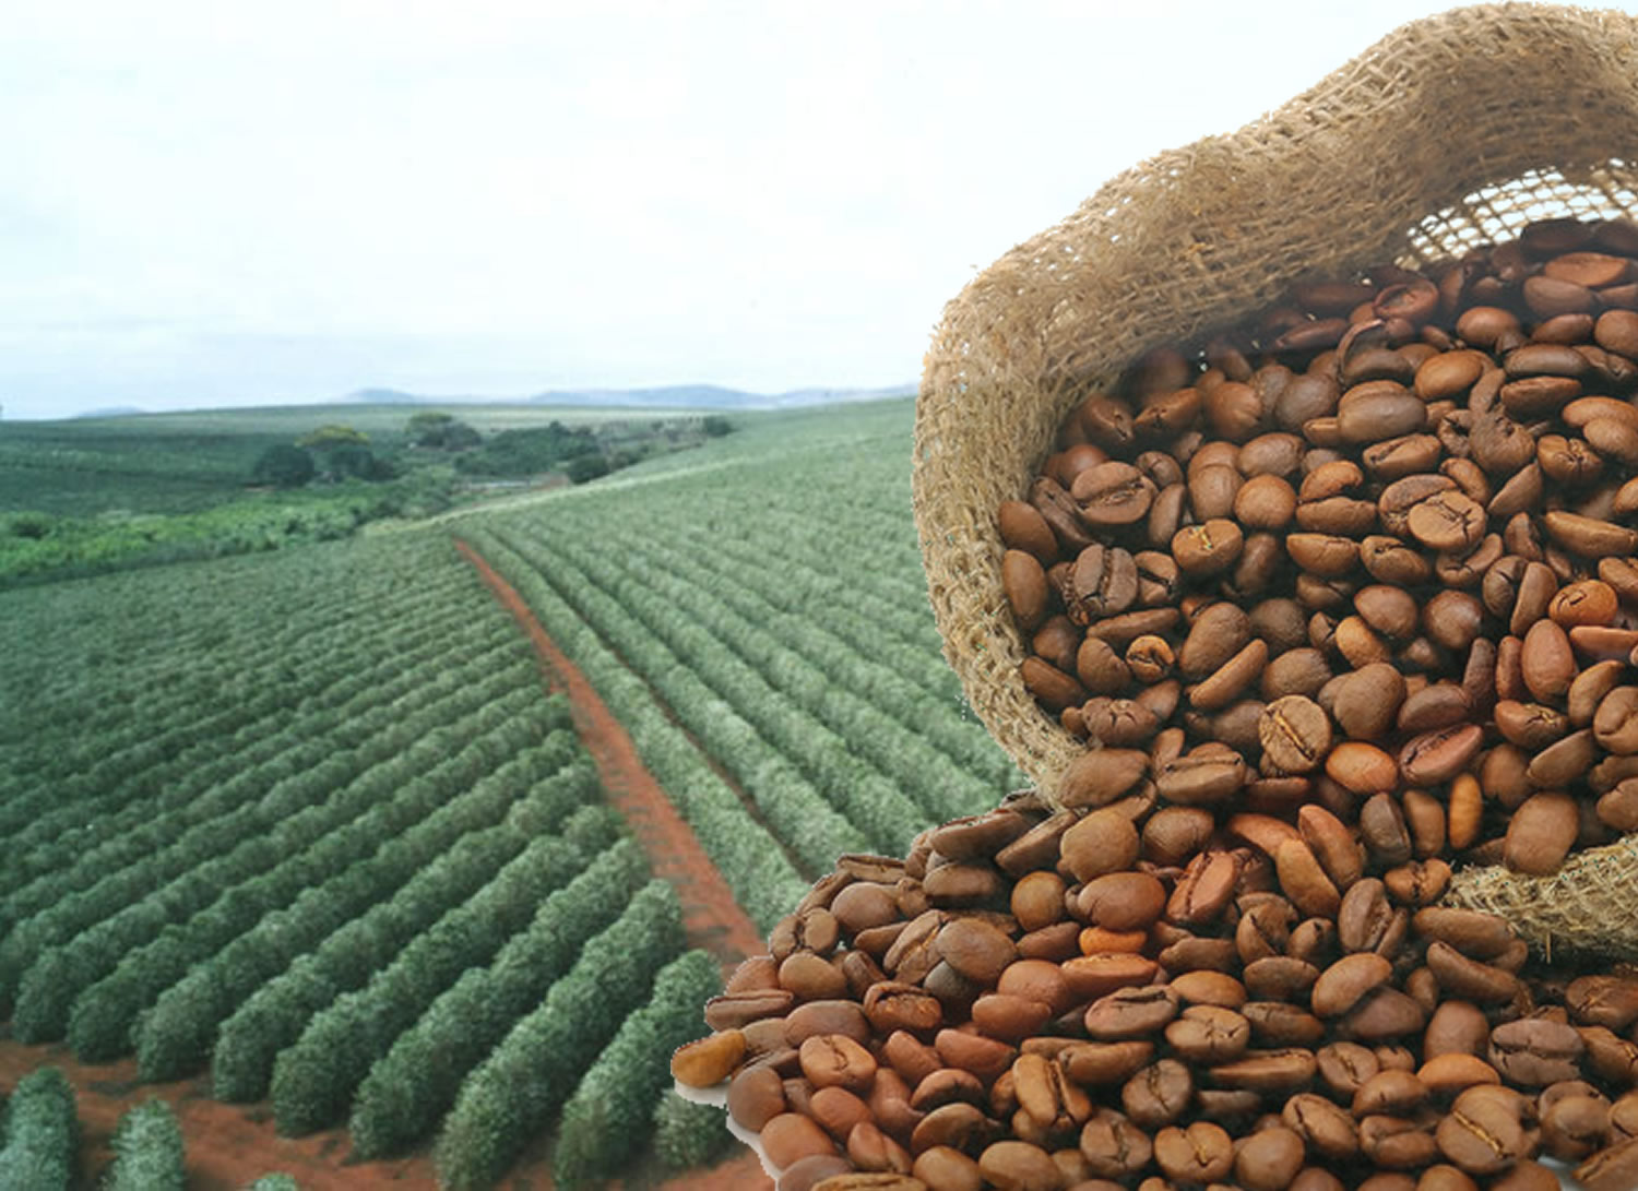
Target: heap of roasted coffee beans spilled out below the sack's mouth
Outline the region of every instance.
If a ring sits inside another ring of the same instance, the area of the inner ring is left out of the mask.
[[[1016,795],[842,857],[672,1071],[778,1191],[1638,1186],[1638,973],[1533,973],[1325,811],[1301,863],[1199,814]]]

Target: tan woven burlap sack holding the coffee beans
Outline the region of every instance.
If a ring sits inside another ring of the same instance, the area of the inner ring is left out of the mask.
[[[1405,25],[1240,131],[1125,170],[945,308],[916,403],[929,596],[968,701],[1048,798],[1084,745],[1019,678],[994,514],[1070,408],[1294,280],[1417,267],[1559,215],[1638,215],[1638,18],[1482,5]],[[1548,880],[1464,872],[1451,901],[1543,949],[1638,958],[1638,836]]]

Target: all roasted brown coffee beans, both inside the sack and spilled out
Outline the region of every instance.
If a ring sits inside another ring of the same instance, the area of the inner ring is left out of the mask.
[[[1638,829],[1635,360],[1553,220],[1088,395],[999,509],[1086,754],[842,857],[678,1081],[780,1191],[1638,1188],[1638,970],[1438,904]]]

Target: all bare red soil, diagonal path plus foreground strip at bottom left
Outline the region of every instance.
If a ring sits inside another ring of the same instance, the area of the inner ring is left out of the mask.
[[[631,824],[657,876],[670,881],[683,904],[683,927],[691,947],[716,955],[724,970],[747,955],[763,952],[757,927],[734,901],[722,875],[699,847],[654,775],[644,768],[626,729],[598,698],[585,675],[563,655],[541,627],[513,586],[501,578],[467,542],[457,549],[483,577],[495,598],[518,619],[541,657],[552,690],[567,691],[575,731],[598,765],[609,803]],[[16,1083],[39,1066],[59,1066],[74,1085],[82,1145],[82,1183],[95,1180],[113,1160],[108,1142],[120,1116],[144,1099],[162,1099],[177,1114],[187,1145],[188,1191],[238,1191],[274,1171],[293,1175],[303,1191],[419,1191],[436,1188],[437,1176],[428,1152],[391,1162],[342,1165],[351,1143],[344,1129],[308,1137],[280,1137],[270,1107],[236,1106],[210,1099],[210,1078],[175,1083],[139,1083],[136,1062],[100,1066],[74,1062],[67,1047],[25,1047],[0,1039],[0,1091],[10,1094]],[[726,1124],[724,1124],[726,1127]],[[652,1155],[624,1180],[631,1191],[771,1191],[773,1183],[752,1152],[740,1152],[713,1170],[667,1178]],[[500,1183],[506,1191],[552,1191],[545,1139],[539,1139],[519,1166]],[[621,1183],[609,1183],[619,1191]]]

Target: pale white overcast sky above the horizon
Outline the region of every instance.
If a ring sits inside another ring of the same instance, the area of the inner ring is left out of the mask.
[[[1445,7],[11,0],[0,405],[909,383],[1109,175]]]

